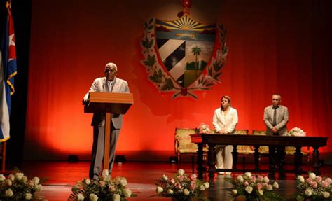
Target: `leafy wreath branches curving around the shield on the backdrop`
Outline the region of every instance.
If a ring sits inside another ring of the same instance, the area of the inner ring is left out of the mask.
[[[198,99],[193,93],[195,90],[209,90],[213,85],[221,83],[221,69],[226,62],[228,47],[226,46],[226,29],[223,25],[217,25],[217,37],[214,53],[205,67],[203,73],[188,88],[183,88],[174,81],[165,69],[162,61],[158,61],[157,47],[155,46],[155,18],[150,18],[144,23],[144,36],[141,39],[142,55],[141,63],[146,67],[148,79],[158,88],[160,92],[174,92],[172,99],[190,96]]]

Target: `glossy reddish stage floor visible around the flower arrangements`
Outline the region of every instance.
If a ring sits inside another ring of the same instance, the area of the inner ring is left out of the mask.
[[[88,178],[90,162],[23,162],[20,170],[32,179],[39,176],[40,179],[47,179],[43,183],[42,194],[44,199],[67,200],[71,194],[71,187],[77,181]],[[249,165],[250,167],[250,165]],[[191,163],[181,164],[181,169],[191,173]],[[305,169],[305,167],[303,168]],[[124,176],[127,179],[127,187],[137,194],[128,200],[171,200],[170,198],[155,196],[155,179],[160,179],[162,174],[173,176],[177,172],[177,164],[169,162],[123,162],[116,163],[112,176]],[[332,177],[331,166],[321,168],[321,176]],[[234,173],[231,176],[242,174]],[[266,176],[267,173],[262,173]],[[276,175],[277,178],[277,175]],[[279,193],[285,197],[291,197],[296,189],[296,181],[293,174],[286,174],[286,179],[279,180]],[[209,179],[203,179],[208,181]],[[216,175],[210,183],[209,190],[204,195],[209,200],[230,200],[230,194],[225,188],[230,188],[230,183],[225,181],[224,175]]]

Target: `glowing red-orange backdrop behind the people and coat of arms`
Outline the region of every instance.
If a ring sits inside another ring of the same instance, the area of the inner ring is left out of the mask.
[[[174,154],[175,127],[212,127],[222,95],[237,109],[237,129],[265,130],[263,109],[279,93],[289,129],[331,137],[331,3],[192,1],[193,19],[228,29],[229,54],[221,84],[198,100],[172,100],[148,81],[139,39],[148,18],[176,19],[181,1],[33,1],[25,159],[90,158],[82,99],[107,62],[134,93],[117,146],[130,159]],[[332,151],[331,139],[320,151]]]

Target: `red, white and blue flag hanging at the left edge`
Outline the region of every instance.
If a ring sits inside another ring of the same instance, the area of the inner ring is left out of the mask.
[[[16,51],[11,1],[6,2],[7,15],[4,23],[4,33],[1,39],[1,70],[0,70],[0,141],[9,139],[9,115],[11,114],[11,95],[14,90],[16,71]]]

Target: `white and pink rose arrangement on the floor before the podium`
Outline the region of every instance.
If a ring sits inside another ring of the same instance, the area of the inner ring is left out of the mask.
[[[125,177],[116,177],[111,179],[109,171],[104,169],[102,175],[97,179],[83,179],[71,188],[71,195],[68,200],[78,201],[125,201],[127,197],[136,197],[131,190],[127,188],[127,179]]]

